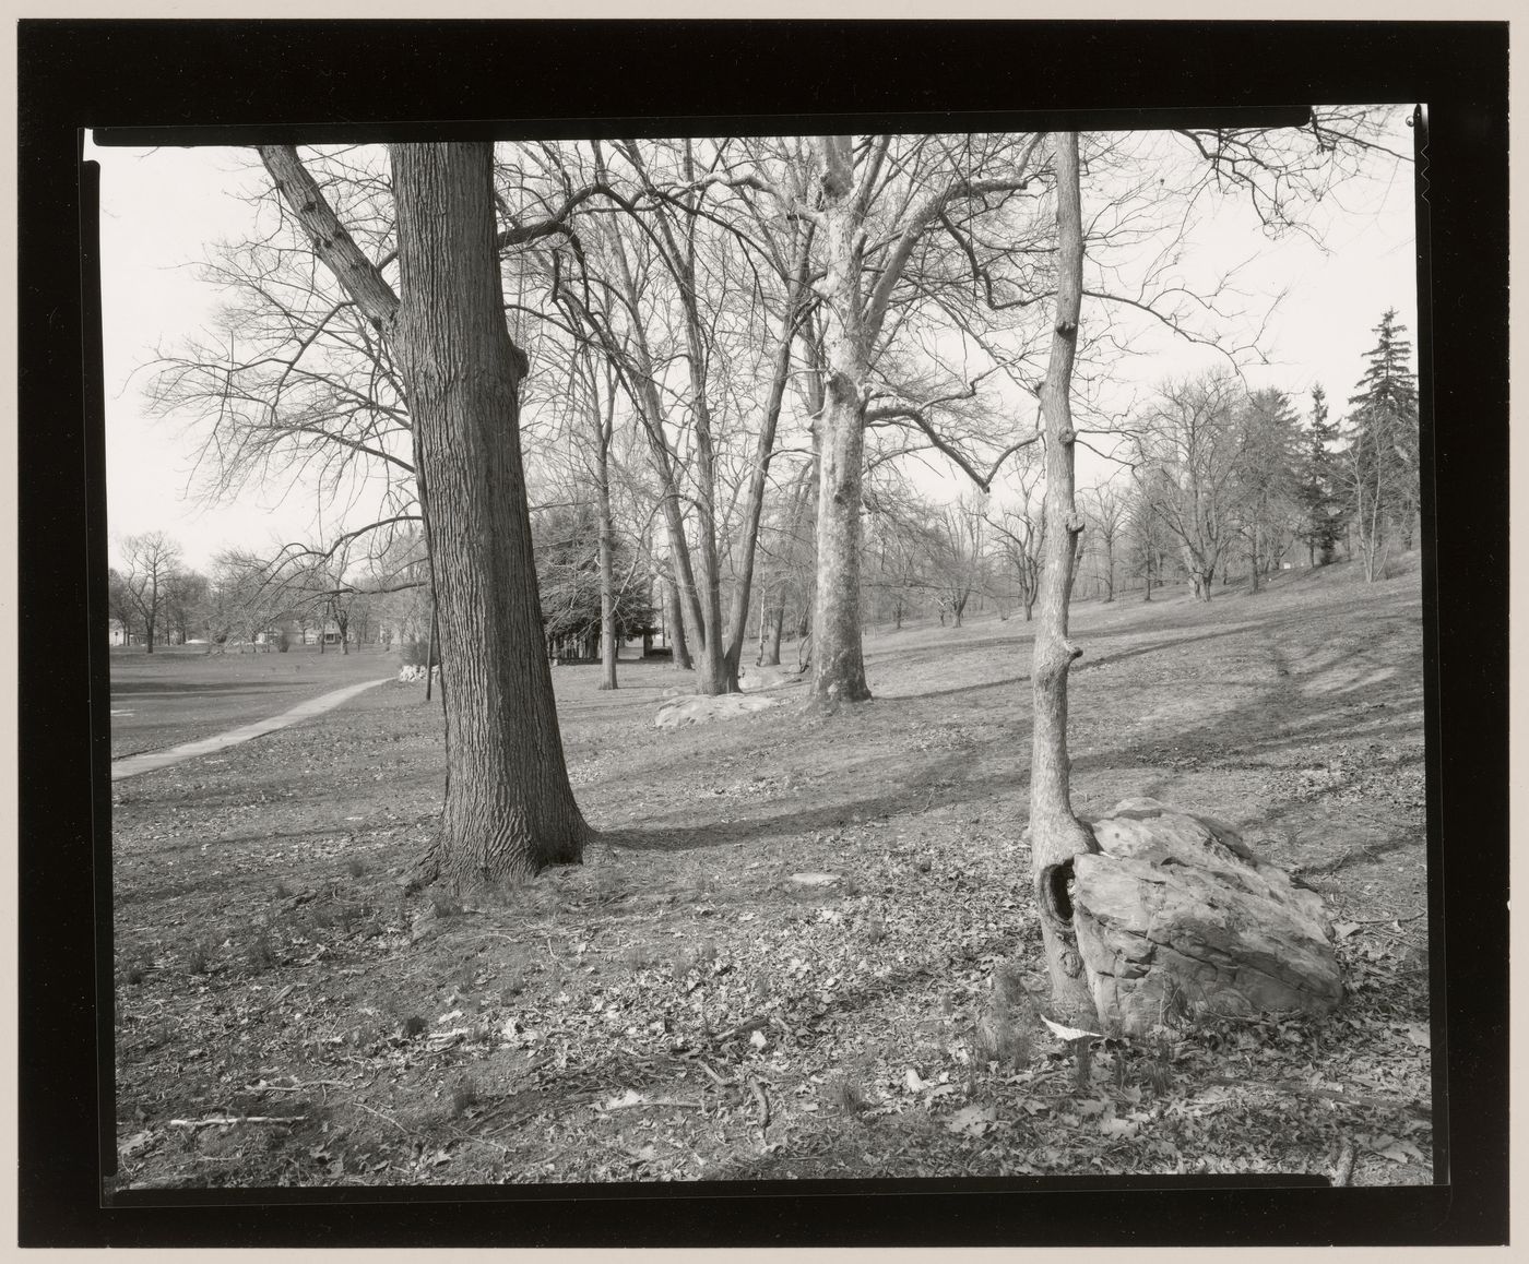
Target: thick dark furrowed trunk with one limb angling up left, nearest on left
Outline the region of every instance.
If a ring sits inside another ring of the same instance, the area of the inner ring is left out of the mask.
[[[388,339],[430,488],[446,792],[411,885],[471,890],[583,856],[543,653],[520,459],[524,355],[505,326],[489,144],[393,145],[401,295],[361,254],[291,147],[260,156],[315,252]]]

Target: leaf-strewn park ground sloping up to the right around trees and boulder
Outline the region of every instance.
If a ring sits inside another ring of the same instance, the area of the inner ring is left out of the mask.
[[[115,787],[118,1188],[1427,1183],[1416,572],[1164,596],[1075,607],[1076,807],[1212,812],[1323,891],[1349,989],[1329,1019],[1101,1041],[1079,1088],[995,1012],[995,971],[1044,974],[1020,619],[870,634],[876,700],[827,718],[661,732],[673,668],[622,663],[615,694],[558,668],[602,838],[492,908],[399,897],[443,747],[420,686],[384,685]]]

